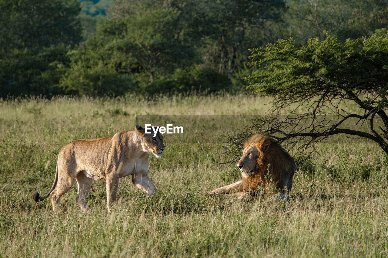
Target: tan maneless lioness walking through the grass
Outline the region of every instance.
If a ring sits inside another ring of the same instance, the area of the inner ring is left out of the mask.
[[[54,184],[49,193],[39,197],[36,192],[32,196],[33,201],[43,201],[50,195],[52,207],[56,210],[60,208],[59,198],[77,181],[76,203],[82,210],[87,210],[85,198],[93,180],[99,180],[106,181],[107,206],[110,210],[112,202],[116,201],[119,178],[127,175],[132,175],[133,184],[147,192],[148,196],[156,194],[147,173],[148,152],[159,158],[165,145],[159,131],[156,137],[153,135],[153,132],[146,134],[143,127],[136,126],[136,131],[118,132],[113,137],[66,144],[59,151]]]

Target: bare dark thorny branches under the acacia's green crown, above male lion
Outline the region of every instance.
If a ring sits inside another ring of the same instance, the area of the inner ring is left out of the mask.
[[[317,108],[320,105],[322,107],[324,106],[324,103],[321,102],[322,99],[320,98],[317,101],[318,103],[314,105],[312,112],[303,114],[298,114],[296,110],[293,110],[288,115],[282,115],[278,112],[283,107],[282,105],[273,107],[272,111],[276,112],[276,115],[253,119],[251,125],[239,129],[234,135],[229,136],[229,140],[224,146],[224,152],[221,157],[228,158],[228,162],[226,163],[233,164],[236,162],[241,155],[242,144],[256,132],[265,132],[271,135],[288,150],[296,147],[297,153],[308,151],[308,155],[316,151],[316,143],[325,141],[329,136],[338,134],[356,136],[357,138],[374,141],[388,155],[386,137],[388,118],[384,110],[378,107],[367,107],[360,102],[364,112],[363,114],[355,114],[340,109],[337,103],[332,105],[334,110],[336,110],[334,114],[333,112],[325,113]],[[306,106],[312,107],[311,105]],[[376,126],[379,132],[374,129]],[[348,138],[338,136],[336,140],[344,142]]]

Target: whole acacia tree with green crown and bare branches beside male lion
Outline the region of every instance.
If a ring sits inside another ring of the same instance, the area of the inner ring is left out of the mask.
[[[374,141],[388,154],[385,29],[345,43],[329,34],[304,46],[292,38],[279,40],[253,49],[250,58],[257,70],[246,78],[249,88],[273,97],[271,115],[254,120],[229,146],[253,131],[265,131],[303,151],[329,136],[346,134]]]

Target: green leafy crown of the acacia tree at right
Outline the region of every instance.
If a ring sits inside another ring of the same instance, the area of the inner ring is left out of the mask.
[[[317,96],[326,101],[331,96],[351,94],[350,91],[356,95],[367,91],[372,95],[362,101],[363,105],[380,98],[376,104],[385,107],[387,32],[378,31],[369,38],[345,43],[326,36],[323,41],[310,39],[306,46],[297,46],[289,39],[254,49],[251,65],[265,69],[248,77],[249,87],[287,104]]]

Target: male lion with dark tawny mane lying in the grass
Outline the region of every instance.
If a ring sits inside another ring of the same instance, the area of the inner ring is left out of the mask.
[[[280,199],[288,200],[294,176],[294,158],[270,136],[257,133],[244,143],[244,150],[237,166],[242,180],[211,191],[209,194],[241,193],[239,200],[262,185],[268,192],[268,179],[272,177],[275,187],[281,190]],[[270,177],[268,177],[270,176]]]

